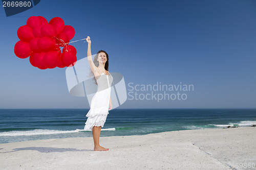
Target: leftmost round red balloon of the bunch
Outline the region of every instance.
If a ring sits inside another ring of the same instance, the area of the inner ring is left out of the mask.
[[[29,48],[28,42],[20,40],[14,46],[14,53],[18,58],[28,58],[32,51]]]

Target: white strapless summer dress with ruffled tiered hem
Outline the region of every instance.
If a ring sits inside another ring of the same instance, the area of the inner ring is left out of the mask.
[[[101,70],[100,70],[101,71]],[[96,80],[98,84],[97,92],[93,96],[90,110],[87,113],[87,121],[84,126],[85,131],[92,131],[94,126],[104,126],[106,116],[109,114],[112,75],[102,74]]]

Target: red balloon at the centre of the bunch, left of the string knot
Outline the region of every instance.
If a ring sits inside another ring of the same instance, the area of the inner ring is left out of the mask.
[[[50,37],[41,37],[37,41],[37,46],[42,52],[50,52],[55,50],[55,42]]]

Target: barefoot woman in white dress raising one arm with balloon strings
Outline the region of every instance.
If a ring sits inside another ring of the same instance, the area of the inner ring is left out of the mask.
[[[105,51],[100,50],[95,55],[94,60],[92,60],[91,39],[88,36],[86,40],[88,42],[87,58],[91,67],[91,72],[94,76],[95,84],[98,85],[98,88],[93,96],[90,110],[86,115],[88,118],[84,130],[92,131],[93,133],[94,151],[109,151],[109,149],[99,145],[101,127],[103,127],[105,123],[109,110],[112,109],[110,92],[113,77],[108,71],[109,55]]]

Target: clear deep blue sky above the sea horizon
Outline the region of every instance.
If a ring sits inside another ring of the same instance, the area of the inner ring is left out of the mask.
[[[72,40],[90,36],[92,54],[109,54],[109,71],[124,76],[127,93],[129,83],[194,85],[180,92],[186,100],[130,98],[119,108],[256,108],[255,9],[253,0],[56,0],[6,17],[1,7],[0,108],[89,108],[69,94],[66,68],[40,70],[15,56],[17,29],[30,16],[61,17],[76,31]],[[71,45],[77,60],[87,57],[87,43]]]

